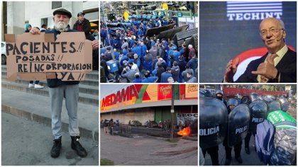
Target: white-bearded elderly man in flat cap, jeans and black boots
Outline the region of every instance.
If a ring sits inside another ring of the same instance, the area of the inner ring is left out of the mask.
[[[45,31],[46,34],[53,33],[55,40],[57,35],[62,32],[77,32],[77,30],[70,29],[70,18],[72,13],[64,8],[57,9],[53,12],[53,21],[55,23],[53,30]],[[33,35],[39,34],[37,28],[32,28],[30,33]],[[96,50],[99,47],[98,40],[92,41],[92,49]],[[51,149],[51,156],[57,158],[60,155],[61,139],[62,139],[62,102],[65,98],[65,105],[69,117],[69,133],[72,139],[71,148],[77,151],[81,157],[87,156],[87,151],[79,143],[79,120],[77,117],[77,103],[79,100],[79,81],[61,81],[60,79],[47,79],[49,94],[50,94],[50,108],[52,113],[52,132],[54,136],[54,145]]]

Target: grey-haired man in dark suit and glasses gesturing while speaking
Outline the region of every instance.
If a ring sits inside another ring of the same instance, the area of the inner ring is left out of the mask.
[[[265,18],[260,23],[260,36],[268,52],[248,64],[245,72],[233,81],[238,59],[228,62],[224,82],[295,83],[297,82],[297,53],[285,44],[285,24],[277,18]]]

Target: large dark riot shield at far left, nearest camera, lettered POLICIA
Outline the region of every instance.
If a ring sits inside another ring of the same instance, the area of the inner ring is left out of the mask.
[[[217,146],[226,136],[226,105],[216,98],[199,99],[199,145],[202,149]]]

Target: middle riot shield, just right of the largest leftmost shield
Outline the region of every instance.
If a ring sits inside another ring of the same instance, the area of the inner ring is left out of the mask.
[[[228,115],[228,146],[235,146],[248,133],[250,111],[248,105],[237,105]]]

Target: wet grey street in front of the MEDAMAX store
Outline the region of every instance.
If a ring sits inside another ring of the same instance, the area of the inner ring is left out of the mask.
[[[198,142],[179,139],[171,143],[165,138],[136,136],[133,138],[104,134],[100,136],[101,159],[119,166],[197,166]]]

